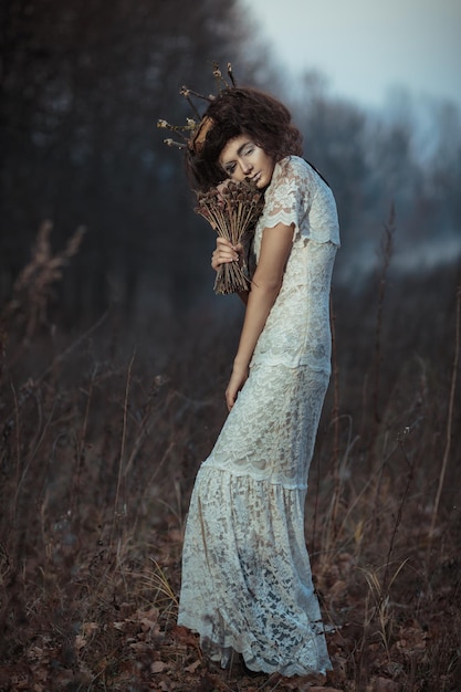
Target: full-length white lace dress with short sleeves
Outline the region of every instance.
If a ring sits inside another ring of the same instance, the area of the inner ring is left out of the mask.
[[[197,475],[178,623],[226,667],[284,675],[331,668],[304,537],[304,501],[331,371],[329,289],[339,245],[328,186],[298,157],[276,164],[259,220],[294,224],[280,294],[250,376]]]

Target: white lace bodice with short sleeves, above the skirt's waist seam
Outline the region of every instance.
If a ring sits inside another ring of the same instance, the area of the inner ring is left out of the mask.
[[[339,245],[336,205],[328,186],[296,156],[275,166],[254,234],[256,261],[264,228],[277,223],[293,224],[293,248],[251,365],[307,365],[329,373],[329,287]]]

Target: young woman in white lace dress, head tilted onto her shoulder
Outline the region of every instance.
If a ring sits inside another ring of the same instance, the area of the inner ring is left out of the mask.
[[[178,623],[226,667],[331,669],[304,537],[307,473],[331,371],[329,289],[339,245],[333,193],[301,158],[289,111],[252,88],[212,101],[190,143],[197,188],[250,178],[264,191],[256,268],[232,374],[229,416],[197,475]],[[239,259],[218,239],[212,266]]]

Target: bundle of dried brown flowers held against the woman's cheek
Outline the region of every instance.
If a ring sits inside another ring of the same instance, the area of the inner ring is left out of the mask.
[[[230,180],[219,191],[212,189],[197,192],[197,201],[196,213],[207,219],[218,235],[233,245],[242,243],[243,248],[250,247],[254,227],[264,206],[263,193],[251,180]],[[247,252],[243,252],[242,265],[237,260],[221,264],[214,281],[217,295],[249,291],[251,277],[245,255]]]

